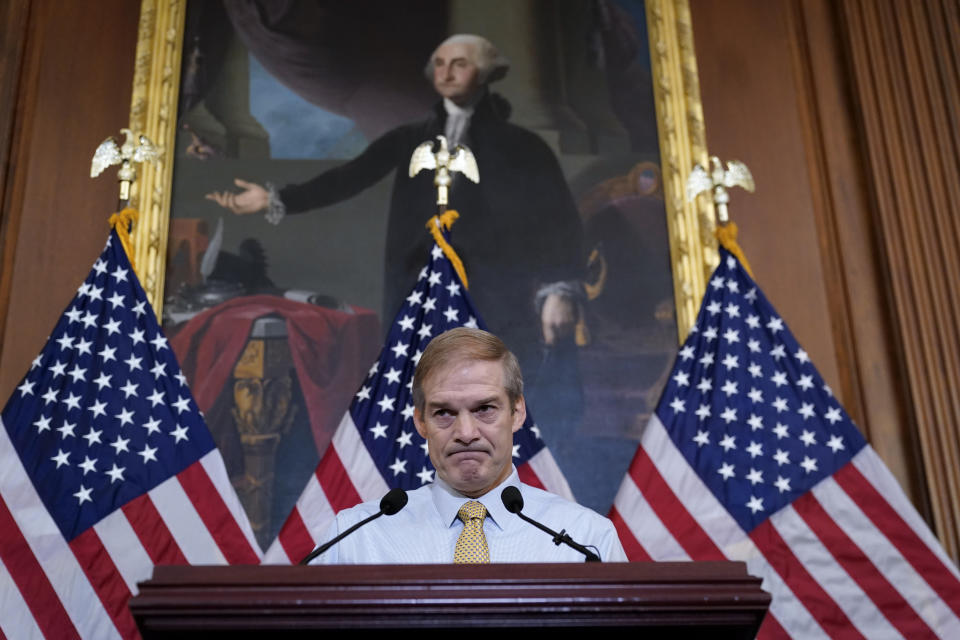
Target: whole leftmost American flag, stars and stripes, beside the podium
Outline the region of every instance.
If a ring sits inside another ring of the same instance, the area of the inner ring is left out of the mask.
[[[156,564],[258,563],[115,231],[0,429],[0,636],[134,638]]]

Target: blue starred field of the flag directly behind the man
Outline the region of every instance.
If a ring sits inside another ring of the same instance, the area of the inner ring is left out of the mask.
[[[486,329],[450,260],[434,244],[380,358],[350,404],[353,423],[391,488],[415,489],[434,480],[426,440],[413,424],[413,372],[434,336],[462,326]],[[529,407],[513,443],[517,466],[544,447]]]

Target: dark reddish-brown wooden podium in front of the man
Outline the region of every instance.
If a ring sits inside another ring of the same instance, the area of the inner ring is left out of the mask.
[[[147,639],[464,627],[747,639],[769,604],[742,562],[638,562],[159,566],[130,609]]]

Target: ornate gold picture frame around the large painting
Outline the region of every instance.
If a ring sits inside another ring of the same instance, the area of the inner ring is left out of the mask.
[[[143,0],[130,105],[130,128],[166,150],[144,165],[131,192],[139,210],[135,262],[160,316],[170,225],[177,97],[186,0]],[[706,198],[687,202],[686,178],[706,166],[703,109],[687,0],[647,0],[651,67],[670,238],[678,341],[696,320],[706,279],[717,264],[714,212]]]

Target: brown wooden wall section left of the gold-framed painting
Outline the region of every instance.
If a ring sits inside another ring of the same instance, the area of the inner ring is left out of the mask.
[[[140,6],[129,0],[0,5],[0,116],[13,114],[0,119],[10,127],[6,136],[0,132],[0,158],[9,159],[0,182],[5,402],[103,249],[118,190],[109,177],[90,179],[90,159],[130,118]]]

